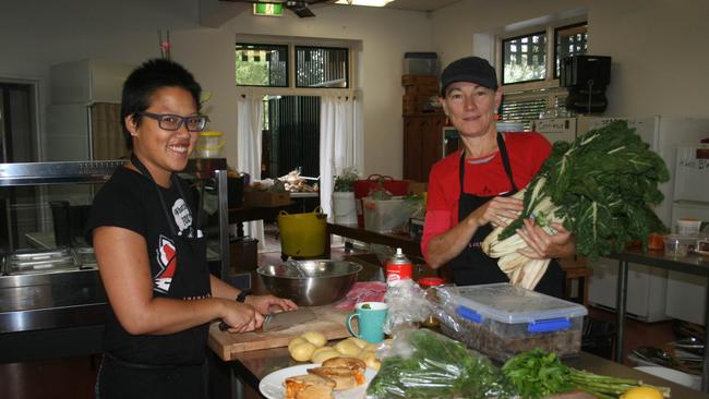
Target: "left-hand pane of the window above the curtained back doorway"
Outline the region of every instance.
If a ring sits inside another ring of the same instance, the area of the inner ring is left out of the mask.
[[[288,87],[288,46],[237,44],[237,84]]]

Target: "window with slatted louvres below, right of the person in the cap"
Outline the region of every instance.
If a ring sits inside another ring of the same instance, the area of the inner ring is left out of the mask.
[[[558,86],[560,60],[588,51],[587,32],[587,22],[566,22],[497,37],[502,121],[521,122],[529,130],[533,119],[569,116],[564,107],[568,92]]]

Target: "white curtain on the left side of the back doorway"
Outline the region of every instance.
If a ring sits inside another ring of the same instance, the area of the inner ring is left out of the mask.
[[[263,132],[263,101],[259,96],[242,95],[237,100],[237,168],[261,180],[261,136]],[[259,249],[265,246],[263,220],[244,223],[244,234],[259,240]]]

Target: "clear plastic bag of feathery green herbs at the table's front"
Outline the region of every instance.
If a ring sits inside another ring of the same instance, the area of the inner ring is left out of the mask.
[[[382,346],[372,398],[510,398],[500,370],[485,356],[428,329],[404,329]]]

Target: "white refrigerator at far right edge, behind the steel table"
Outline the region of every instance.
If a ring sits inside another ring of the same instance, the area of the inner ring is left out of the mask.
[[[709,144],[680,147],[676,174],[672,220],[699,219],[709,234]],[[706,287],[706,278],[668,273],[668,316],[704,325]]]

